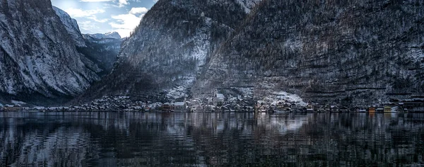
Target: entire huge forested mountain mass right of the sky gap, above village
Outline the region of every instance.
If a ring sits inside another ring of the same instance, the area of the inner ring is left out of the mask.
[[[112,74],[84,97],[206,98],[220,91],[365,105],[423,96],[423,7],[160,0],[122,43]]]

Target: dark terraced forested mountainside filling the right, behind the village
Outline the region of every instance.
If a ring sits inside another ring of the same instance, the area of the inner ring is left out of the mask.
[[[263,1],[213,54],[194,94],[250,88],[257,98],[291,91],[358,104],[420,95],[423,14],[423,1]]]

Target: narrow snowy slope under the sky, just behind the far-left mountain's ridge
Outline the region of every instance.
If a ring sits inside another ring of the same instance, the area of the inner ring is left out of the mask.
[[[78,47],[86,47],[86,42],[84,42],[83,35],[81,35],[81,31],[79,30],[78,23],[75,19],[71,18],[68,13],[53,6],[53,10],[56,12],[57,16],[59,16],[62,23],[64,23],[66,30],[68,30],[69,35],[75,42]]]

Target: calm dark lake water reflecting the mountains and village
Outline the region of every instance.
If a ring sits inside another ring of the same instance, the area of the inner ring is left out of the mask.
[[[0,166],[423,166],[423,114],[0,113]]]

